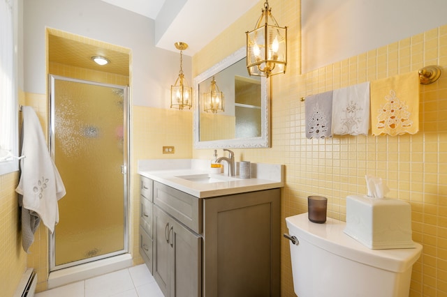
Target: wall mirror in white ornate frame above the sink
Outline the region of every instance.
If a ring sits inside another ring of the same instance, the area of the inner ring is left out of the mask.
[[[195,148],[270,147],[268,79],[249,76],[246,54],[242,47],[194,79]],[[223,93],[223,112],[205,112],[213,77]]]

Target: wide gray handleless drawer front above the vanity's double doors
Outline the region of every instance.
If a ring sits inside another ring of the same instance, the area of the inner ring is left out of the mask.
[[[202,199],[154,181],[154,204],[197,234],[202,233]]]

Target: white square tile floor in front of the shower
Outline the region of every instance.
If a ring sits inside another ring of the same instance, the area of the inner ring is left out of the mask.
[[[163,297],[145,264],[36,293],[35,297]]]

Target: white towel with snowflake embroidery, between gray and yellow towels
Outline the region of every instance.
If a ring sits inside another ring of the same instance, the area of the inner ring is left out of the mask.
[[[369,82],[334,90],[332,133],[367,135],[369,130]]]

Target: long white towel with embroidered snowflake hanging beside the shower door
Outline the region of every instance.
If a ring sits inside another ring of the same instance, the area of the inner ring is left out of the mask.
[[[23,207],[36,213],[43,224],[54,231],[59,222],[57,201],[66,194],[64,183],[48,152],[41,123],[29,106],[22,107],[23,143],[19,185],[15,192],[23,196]]]

